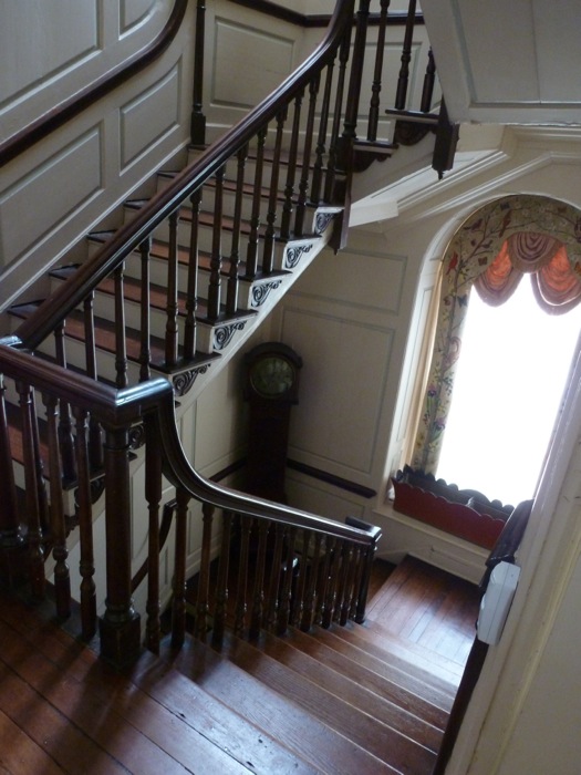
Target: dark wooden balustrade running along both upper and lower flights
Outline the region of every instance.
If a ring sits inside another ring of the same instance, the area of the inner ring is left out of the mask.
[[[200,1],[200,12],[203,7]],[[384,22],[386,9],[387,3],[382,2],[380,17]],[[370,0],[360,2],[352,41],[353,19],[354,1],[341,0],[322,43],[280,90],[185,169],[172,175],[148,203],[133,203],[131,220],[84,265],[60,270],[64,280],[60,288],[38,307],[22,306],[18,313],[23,322],[12,338],[0,343],[0,372],[9,382],[2,383],[0,392],[0,467],[7,472],[0,485],[2,562],[9,578],[18,575],[18,558],[25,550],[31,589],[40,597],[45,585],[45,552],[51,550],[58,611],[66,616],[66,537],[77,524],[82,630],[85,638],[91,637],[96,626],[92,509],[104,489],[107,599],[100,629],[104,655],[117,663],[133,659],[139,648],[139,616],[132,603],[136,580],[131,577],[128,492],[132,446],[139,438],[145,444],[149,512],[149,560],[143,571],[149,590],[149,648],[155,650],[159,638],[158,554],[168,518],[162,519],[160,531],[162,473],[176,487],[176,644],[185,631],[185,526],[191,498],[204,504],[196,607],[200,633],[210,617],[216,637],[225,626],[232,536],[239,541],[236,556],[242,560],[236,585],[236,630],[256,634],[261,627],[283,631],[289,622],[308,628],[313,621],[328,626],[335,619],[344,622],[364,616],[366,579],[378,530],[339,525],[240,495],[200,477],[181,451],[172,384],[152,379],[153,370],[186,372],[207,362],[211,353],[200,353],[198,348],[201,326],[238,324],[240,318],[255,314],[255,310],[239,307],[241,287],[283,273],[276,268],[274,257],[290,240],[318,238],[308,213],[317,221],[322,211],[324,229],[329,211],[349,211],[350,176],[360,142],[357,106],[363,100]],[[378,39],[383,40],[381,32]],[[370,84],[374,116],[381,70],[377,54],[377,78]],[[400,78],[408,78],[405,68]],[[199,112],[198,104],[196,110]],[[232,192],[235,202],[228,217],[227,190]],[[247,195],[250,206],[245,214],[242,199]],[[335,231],[335,249],[341,247],[347,225],[344,216]],[[206,227],[210,240],[205,249],[199,235]],[[163,279],[156,282],[151,271],[154,257],[165,260],[166,266]],[[204,272],[206,293],[199,290]],[[103,337],[103,321],[100,328],[94,304],[97,292],[112,298],[113,320],[105,321],[105,330],[114,335],[113,374],[103,370],[97,358]],[[127,320],[128,302],[138,307],[137,322]],[[163,314],[163,331],[153,324],[152,310]],[[30,354],[51,338],[55,363]],[[84,375],[68,369],[68,339],[83,342],[85,362],[76,362],[75,369]],[[45,406],[42,433],[40,400]],[[14,403],[15,418],[9,416],[14,413]],[[143,433],[138,432],[141,424]],[[25,492],[24,505],[19,502],[20,489]],[[72,506],[71,493],[75,493]],[[22,513],[27,515],[25,536]],[[230,529],[232,525],[236,530]],[[218,540],[219,568],[210,585],[210,547]],[[3,558],[8,558],[6,562]]]

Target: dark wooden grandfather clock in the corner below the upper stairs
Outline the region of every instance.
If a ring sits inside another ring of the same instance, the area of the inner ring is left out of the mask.
[[[282,342],[264,342],[246,354],[245,365],[249,404],[246,490],[284,503],[290,410],[299,401],[302,359]]]

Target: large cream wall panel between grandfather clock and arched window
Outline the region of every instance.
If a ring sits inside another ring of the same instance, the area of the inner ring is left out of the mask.
[[[284,309],[281,340],[292,342],[304,363],[290,457],[370,486],[393,339],[387,327]]]

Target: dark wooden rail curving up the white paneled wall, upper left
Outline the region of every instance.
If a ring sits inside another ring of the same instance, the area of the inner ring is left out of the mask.
[[[184,20],[187,4],[188,0],[175,0],[164,29],[145,49],[103,73],[96,81],[51,107],[50,111],[35,118],[20,132],[0,143],[0,167],[63,126],[160,56],[176,37]]]

